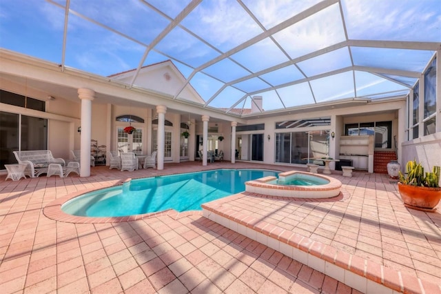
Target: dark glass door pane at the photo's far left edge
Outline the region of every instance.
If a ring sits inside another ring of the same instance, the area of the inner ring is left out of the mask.
[[[12,151],[19,150],[19,115],[0,111],[0,170],[17,164]]]

